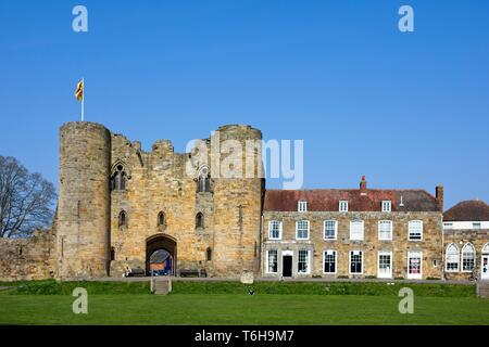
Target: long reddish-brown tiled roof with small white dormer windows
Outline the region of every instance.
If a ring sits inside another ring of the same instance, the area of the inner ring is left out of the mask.
[[[401,197],[403,206],[401,206]],[[348,201],[349,211],[381,211],[381,202],[391,201],[392,211],[440,211],[435,196],[424,190],[266,190],[265,211],[297,211],[298,202],[308,202],[309,211],[338,211]]]

